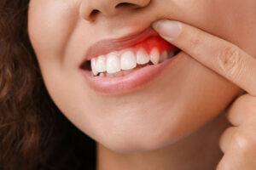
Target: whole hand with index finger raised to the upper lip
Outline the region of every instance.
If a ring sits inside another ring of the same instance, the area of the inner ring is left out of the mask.
[[[256,59],[230,42],[181,22],[160,20],[153,27],[166,41],[247,92],[227,109],[233,127],[219,141],[224,156],[217,169],[255,170]]]

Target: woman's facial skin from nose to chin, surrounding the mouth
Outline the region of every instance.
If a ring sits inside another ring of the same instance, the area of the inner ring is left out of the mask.
[[[178,54],[150,83],[103,94],[90,86],[80,68],[92,45],[170,19],[256,56],[255,8],[254,0],[31,0],[28,31],[55,105],[92,139],[127,153],[158,149],[192,133],[223,111],[241,89]]]

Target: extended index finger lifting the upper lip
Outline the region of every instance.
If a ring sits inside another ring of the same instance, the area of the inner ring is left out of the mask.
[[[177,21],[160,20],[153,27],[166,41],[256,96],[256,59],[241,48]]]

